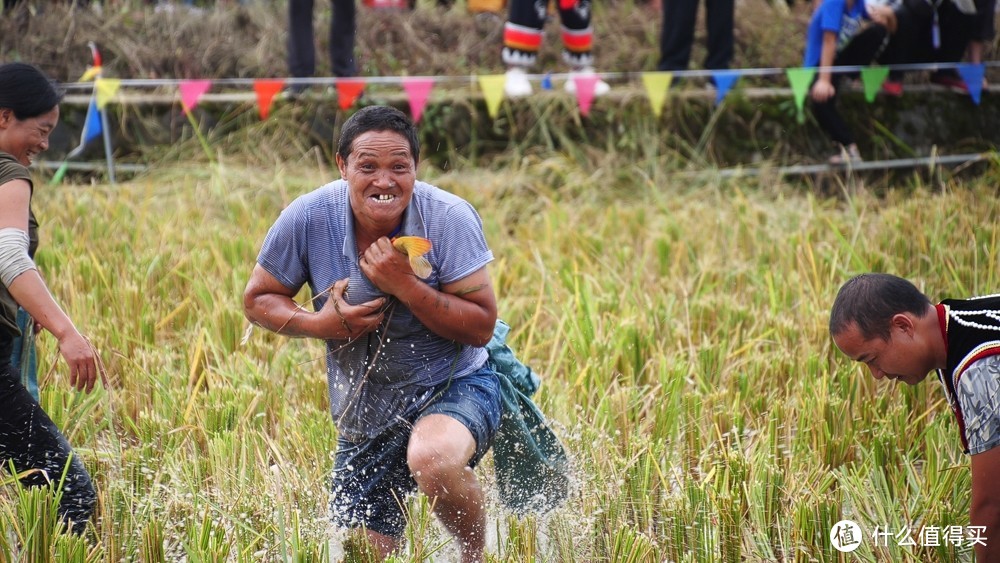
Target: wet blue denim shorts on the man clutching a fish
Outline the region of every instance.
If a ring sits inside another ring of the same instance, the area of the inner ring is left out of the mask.
[[[406,497],[417,484],[406,464],[413,424],[429,414],[444,414],[472,432],[475,467],[493,442],[500,425],[500,382],[490,364],[459,379],[446,381],[440,397],[409,424],[399,424],[371,440],[337,440],[330,500],[331,519],[339,528],[360,528],[401,538],[406,528]]]

